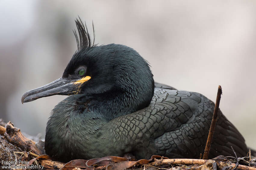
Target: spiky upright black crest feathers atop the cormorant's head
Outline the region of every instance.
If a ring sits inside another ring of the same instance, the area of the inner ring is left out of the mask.
[[[94,41],[95,41],[95,30],[94,30],[94,25],[92,22],[92,29],[93,29],[93,41],[91,40],[91,37],[88,33],[88,28],[86,26],[86,22],[83,23],[81,18],[78,16],[75,20],[76,22],[76,28],[78,31],[78,34],[76,30],[73,30],[73,33],[76,37],[76,44],[77,44],[77,51],[83,49],[83,48],[90,48],[95,46]]]

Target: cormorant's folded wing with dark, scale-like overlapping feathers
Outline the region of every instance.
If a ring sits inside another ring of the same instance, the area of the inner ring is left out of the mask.
[[[204,151],[213,110],[214,103],[202,94],[155,88],[148,107],[111,120],[108,132],[115,151],[131,152],[137,158],[153,154],[199,158]],[[219,111],[210,157],[233,156],[230,146],[238,156],[246,155],[242,135]]]

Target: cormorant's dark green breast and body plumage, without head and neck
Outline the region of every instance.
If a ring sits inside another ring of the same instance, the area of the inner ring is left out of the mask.
[[[126,153],[138,159],[153,154],[199,159],[204,151],[214,103],[199,93],[155,88],[148,107],[111,121],[102,118],[101,114],[88,114],[88,110],[83,114],[75,112],[77,97],[83,95],[70,96],[60,102],[47,124],[45,149],[50,155],[58,153],[53,156],[56,160],[123,156]],[[65,108],[68,110],[64,111]],[[210,157],[233,155],[230,146],[238,156],[246,155],[242,135],[219,111]]]

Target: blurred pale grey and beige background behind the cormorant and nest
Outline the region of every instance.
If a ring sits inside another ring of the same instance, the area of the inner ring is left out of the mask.
[[[42,134],[66,96],[20,102],[61,77],[76,50],[79,15],[96,43],[136,49],[154,79],[215,101],[256,149],[256,1],[0,1],[0,118]]]

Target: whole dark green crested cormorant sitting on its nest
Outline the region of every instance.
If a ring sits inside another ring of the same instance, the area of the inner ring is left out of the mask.
[[[134,49],[97,46],[76,19],[77,51],[61,78],[27,91],[21,102],[70,95],[52,110],[45,151],[55,160],[133,154],[199,158],[214,103],[202,94],[154,83],[150,67]],[[95,37],[95,36],[94,36]],[[246,156],[242,135],[219,111],[210,157]]]

